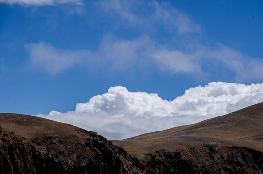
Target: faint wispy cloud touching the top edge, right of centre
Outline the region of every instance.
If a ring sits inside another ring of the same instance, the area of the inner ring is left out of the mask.
[[[178,34],[201,33],[201,27],[169,3],[151,3],[139,0],[100,0],[100,11],[118,15],[123,23],[136,29],[152,30],[162,26],[167,30],[177,30]],[[157,25],[156,25],[157,24]]]

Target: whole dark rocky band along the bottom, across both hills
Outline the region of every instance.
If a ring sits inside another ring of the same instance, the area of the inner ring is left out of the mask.
[[[71,146],[58,135],[27,140],[0,130],[0,174],[263,174],[263,152],[245,147],[204,144],[139,160],[92,131],[77,129],[84,142]]]

